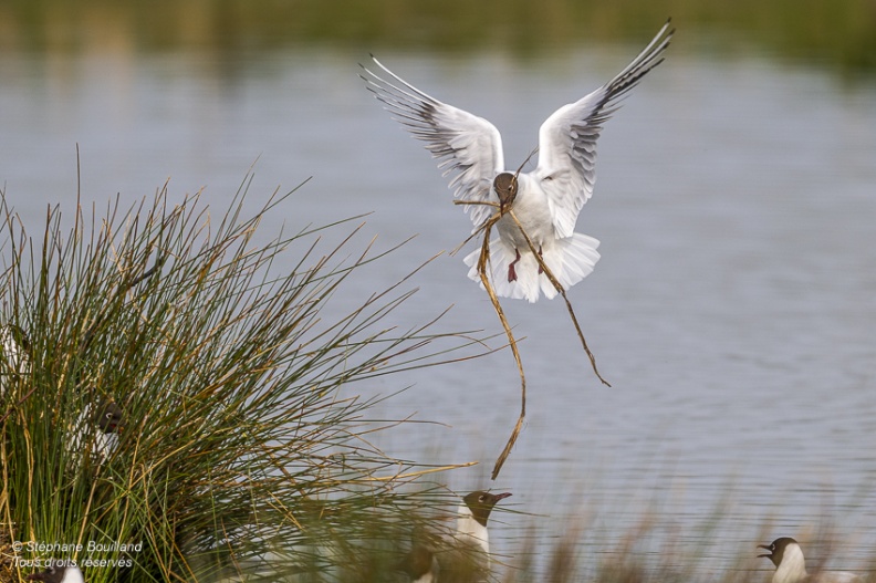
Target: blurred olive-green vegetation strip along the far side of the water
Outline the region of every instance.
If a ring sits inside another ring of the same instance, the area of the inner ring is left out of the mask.
[[[200,48],[227,56],[343,45],[526,58],[606,39],[638,42],[667,17],[700,52],[754,50],[848,77],[876,70],[873,0],[14,0],[0,3],[0,50]]]

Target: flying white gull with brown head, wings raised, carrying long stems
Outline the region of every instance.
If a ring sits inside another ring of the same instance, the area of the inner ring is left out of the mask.
[[[463,201],[501,204],[512,208],[548,269],[564,290],[592,271],[599,241],[574,232],[578,212],[593,195],[596,179],[596,139],[602,124],[617,111],[623,97],[651,69],[663,62],[675,30],[666,22],[660,32],[629,65],[590,95],[560,107],[539,131],[539,165],[534,171],[505,169],[502,137],[490,122],[442,103],[379,66],[389,80],[364,67],[363,79],[375,96],[426,148],[441,162],[453,196]],[[497,209],[466,205],[474,232]],[[507,298],[538,301],[556,289],[543,274],[520,228],[509,216],[497,223],[499,236],[490,241],[489,279],[496,293]],[[469,278],[480,281],[480,249],[465,258]]]

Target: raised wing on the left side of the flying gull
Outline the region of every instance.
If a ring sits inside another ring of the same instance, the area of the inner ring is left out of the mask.
[[[361,75],[362,79],[397,122],[414,137],[427,143],[426,149],[440,160],[438,167],[444,176],[456,173],[450,180],[453,197],[498,202],[492,181],[504,169],[504,157],[502,137],[496,126],[427,95],[386,69],[374,55],[372,59],[389,80],[365,66],[362,69],[367,76]],[[494,212],[492,207],[484,205],[463,205],[463,208],[476,229]]]

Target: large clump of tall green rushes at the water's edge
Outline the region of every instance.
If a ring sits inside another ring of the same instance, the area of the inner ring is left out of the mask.
[[[481,344],[384,324],[398,284],[327,316],[392,249],[346,257],[351,235],[321,253],[346,221],[259,242],[291,192],[244,218],[246,186],[219,219],[163,189],[77,207],[66,235],[51,209],[35,239],[3,198],[0,576],[73,559],[91,583],[377,581],[418,517],[456,503],[369,445],[392,424],[351,385]]]

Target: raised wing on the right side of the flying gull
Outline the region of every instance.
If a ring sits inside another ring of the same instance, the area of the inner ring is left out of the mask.
[[[612,81],[560,107],[539,129],[539,166],[533,176],[548,195],[557,237],[571,237],[596,181],[596,139],[620,100],[663,62],[675,29],[667,20],[651,42]]]

